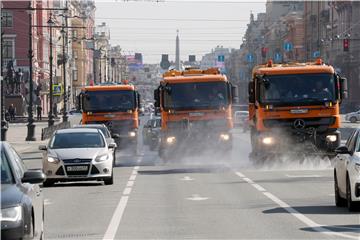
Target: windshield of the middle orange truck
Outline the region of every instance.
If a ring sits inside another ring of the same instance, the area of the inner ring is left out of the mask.
[[[217,109],[229,104],[225,82],[168,84],[164,91],[165,109]]]

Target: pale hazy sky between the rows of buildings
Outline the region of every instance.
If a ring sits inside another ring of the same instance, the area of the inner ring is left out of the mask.
[[[96,8],[96,23],[109,26],[112,45],[158,63],[162,53],[175,59],[177,29],[181,60],[190,54],[199,60],[217,45],[239,48],[250,12],[265,12],[265,0],[96,0]]]

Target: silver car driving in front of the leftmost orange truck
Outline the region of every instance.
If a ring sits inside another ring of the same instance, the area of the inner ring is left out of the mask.
[[[45,187],[62,181],[104,181],[113,184],[113,149],[98,129],[70,128],[57,130],[43,150]]]

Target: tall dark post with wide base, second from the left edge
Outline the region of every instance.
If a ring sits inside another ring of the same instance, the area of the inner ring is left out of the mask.
[[[35,125],[34,125],[34,117],[33,117],[33,69],[32,69],[32,61],[33,61],[33,50],[32,50],[32,11],[31,11],[31,2],[29,2],[29,106],[28,106],[28,124],[27,124],[27,136],[26,141],[36,141],[35,138]]]

